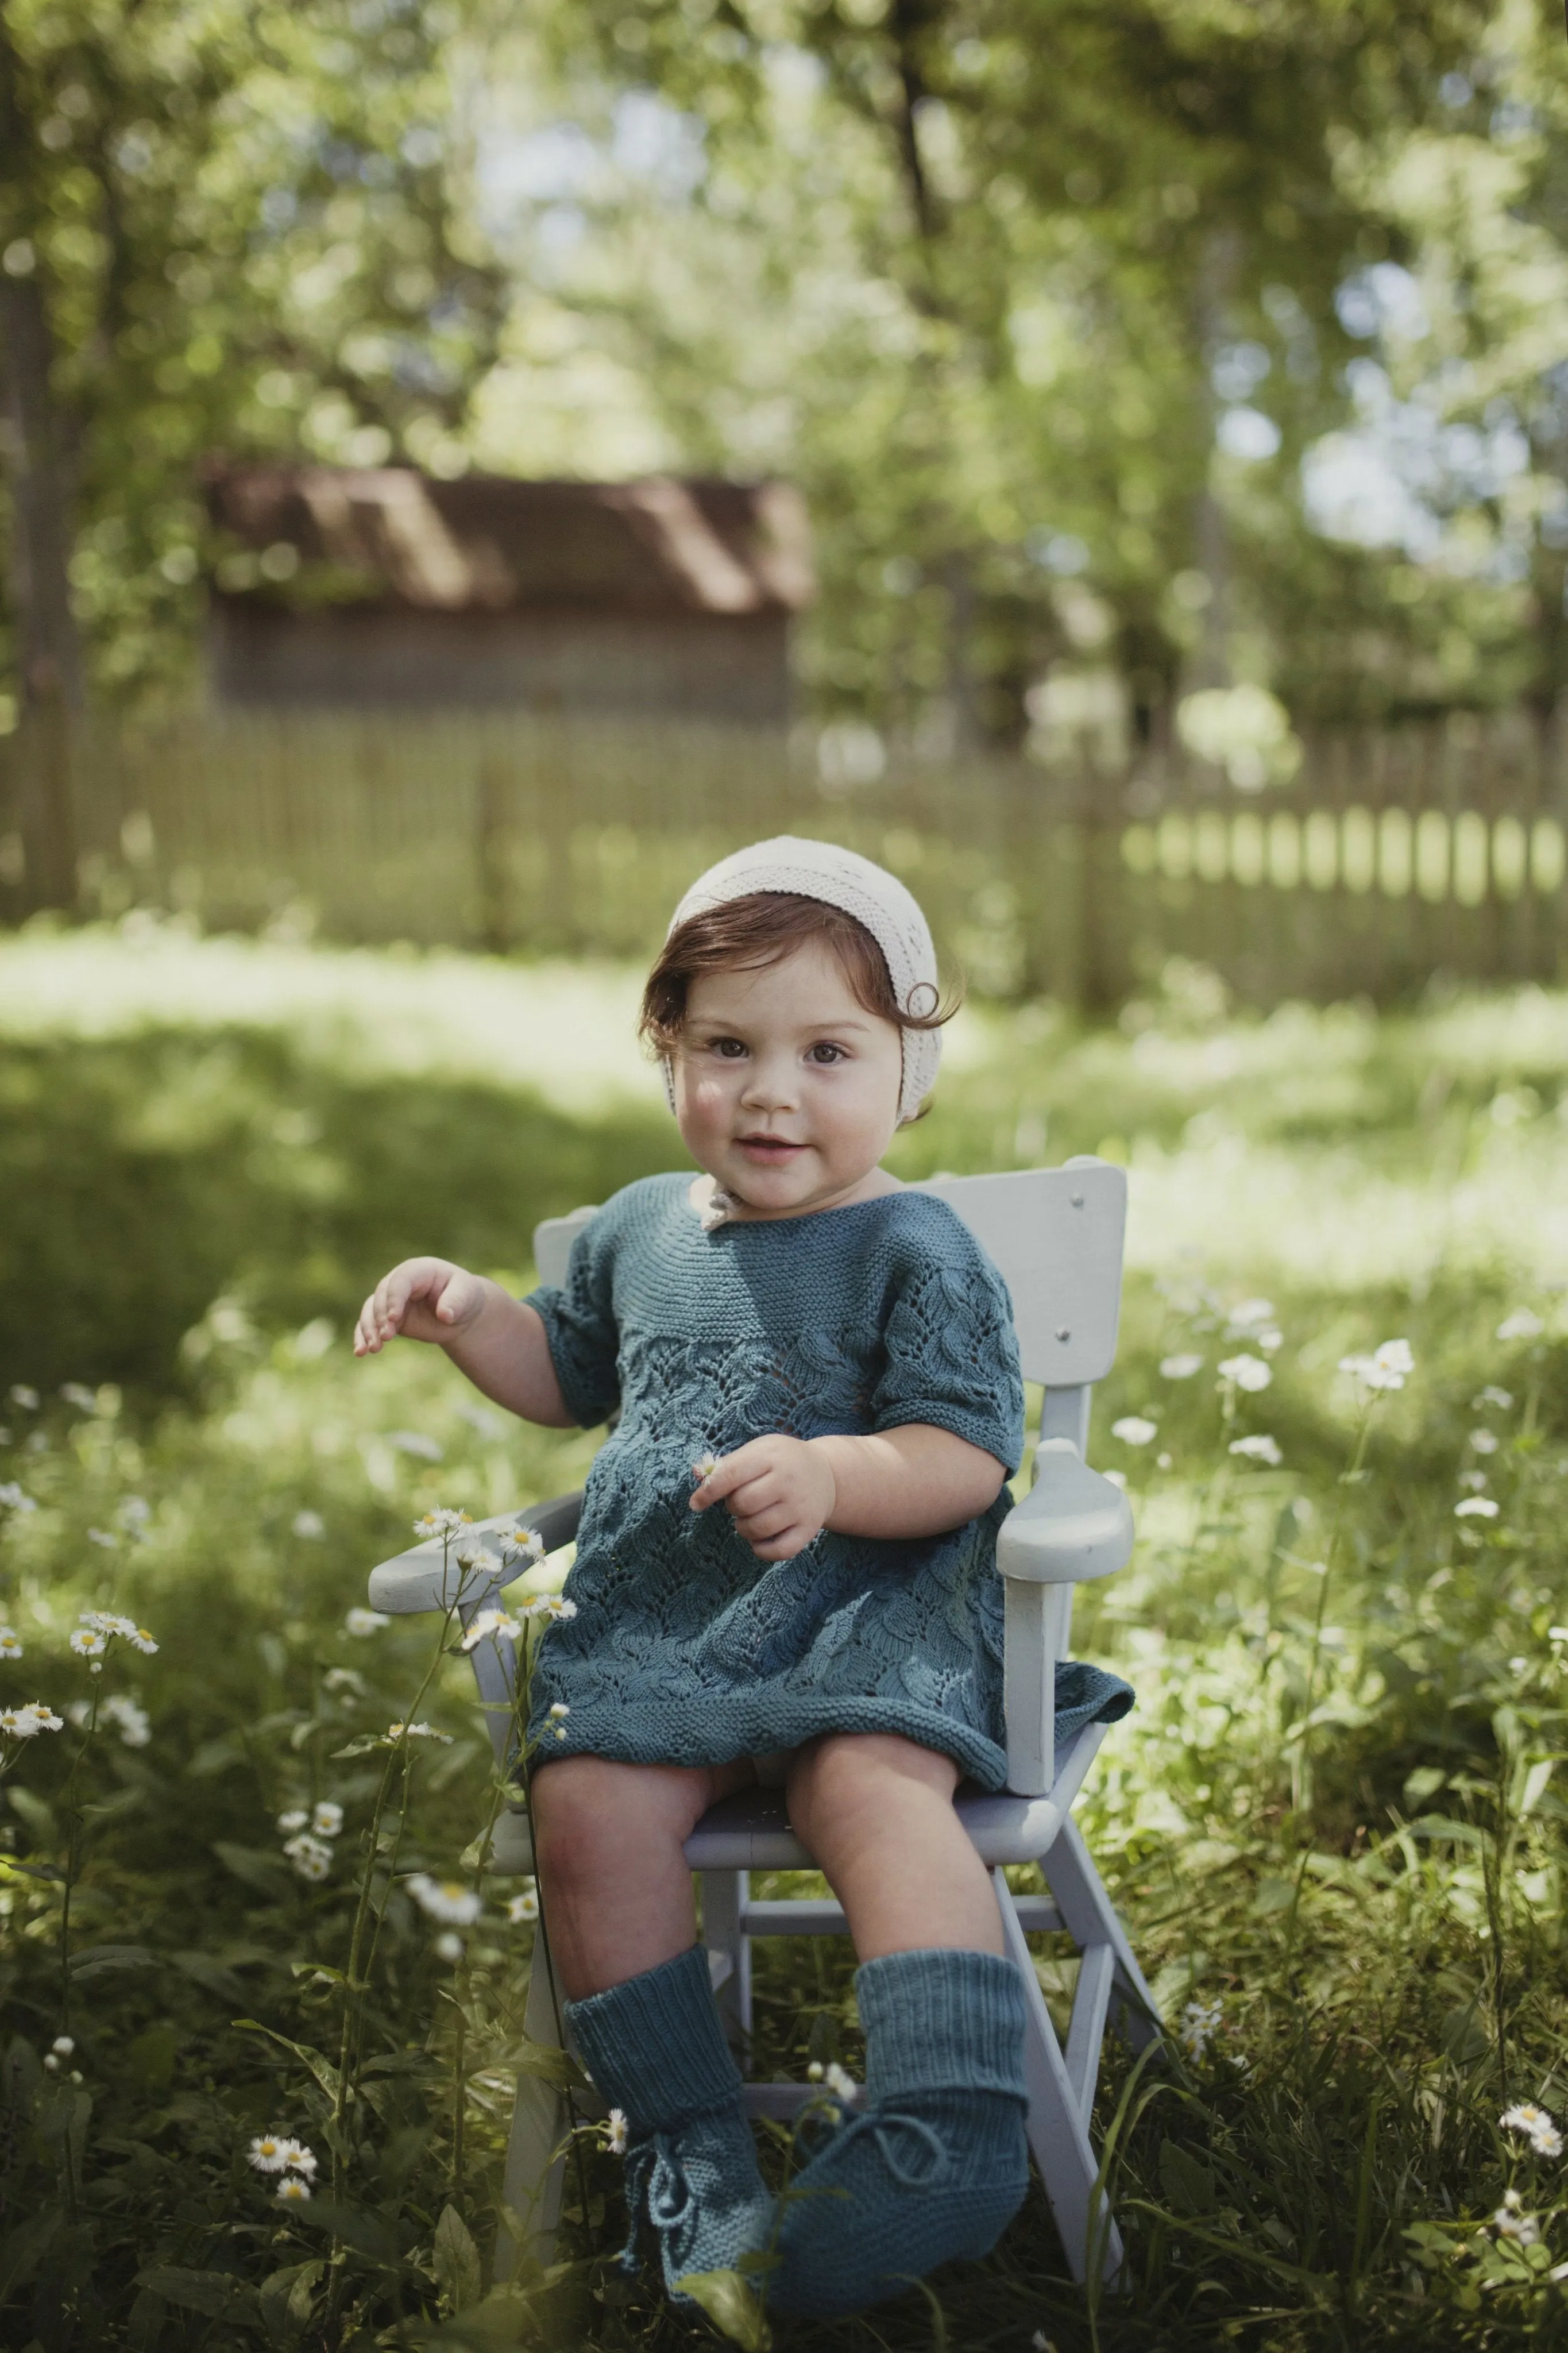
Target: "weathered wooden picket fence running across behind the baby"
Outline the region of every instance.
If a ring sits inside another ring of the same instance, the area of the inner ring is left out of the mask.
[[[893,866],[994,993],[1105,1007],[1171,958],[1258,1005],[1568,979],[1568,741],[1523,713],[1321,736],[1258,793],[1159,762],[842,769],[802,736],[482,713],[19,732],[0,920],[153,904],[214,929],[644,955],[701,866],[795,831]]]

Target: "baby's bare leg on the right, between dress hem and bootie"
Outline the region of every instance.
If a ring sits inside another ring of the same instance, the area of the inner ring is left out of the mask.
[[[790,1769],[790,1821],[816,1854],[860,1960],[957,1946],[1004,1953],[985,1864],[952,1793],[952,1758],[896,1732],[832,1732]]]

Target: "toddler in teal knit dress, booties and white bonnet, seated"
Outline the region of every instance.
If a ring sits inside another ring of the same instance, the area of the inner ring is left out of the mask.
[[[571,2035],[630,2125],[628,2254],[651,2228],[677,2299],[771,2249],[769,2308],[858,2311],[985,2254],[1025,2195],[1023,1993],[952,1807],[959,1777],[1006,1772],[994,1548],[1023,1381],[1001,1278],[879,1165],[943,1019],[893,875],[825,842],[741,849],[682,899],[642,1005],[701,1174],[616,1193],[527,1301],[404,1259],[355,1334],[360,1355],[437,1341],[550,1428],[621,1412],[576,1617],[538,1652],[531,1737],[569,1713],[534,1852]],[[1128,1697],[1077,1668],[1058,1734]],[[783,1781],[844,1904],[867,2042],[865,2111],[783,2217],[682,1857],[755,1779]]]

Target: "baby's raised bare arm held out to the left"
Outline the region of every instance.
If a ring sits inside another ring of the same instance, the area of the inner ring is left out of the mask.
[[[355,1355],[376,1355],[397,1334],[435,1341],[475,1388],[524,1421],[574,1426],[538,1308],[487,1275],[451,1259],[402,1259],[360,1308]]]

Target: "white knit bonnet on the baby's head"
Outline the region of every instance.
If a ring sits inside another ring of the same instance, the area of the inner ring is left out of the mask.
[[[698,875],[670,918],[670,932],[691,915],[708,913],[710,906],[729,906],[731,899],[750,899],[752,892],[785,892],[797,899],[820,899],[837,906],[856,922],[865,925],[882,948],[893,981],[893,995],[910,1014],[933,1014],[938,1005],[936,948],[931,927],[919,911],[919,901],[903,887],[886,866],[872,866],[858,849],[839,849],[837,842],[806,842],[795,833],[778,833],[771,842],[752,842],[719,859],[705,875]],[[665,934],[668,936],[668,934]],[[898,1089],[898,1118],[912,1120],[936,1085],[936,1066],[943,1059],[940,1031],[900,1031],[903,1038],[903,1087]],[[665,1092],[675,1108],[675,1082],[665,1061]]]

